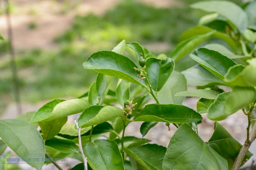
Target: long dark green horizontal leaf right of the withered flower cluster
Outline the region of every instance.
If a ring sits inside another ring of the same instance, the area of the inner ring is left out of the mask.
[[[202,117],[195,110],[178,104],[148,104],[132,121],[188,123]]]

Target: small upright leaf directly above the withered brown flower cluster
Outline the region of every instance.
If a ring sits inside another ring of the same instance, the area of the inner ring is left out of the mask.
[[[130,97],[130,84],[125,81],[120,81],[116,88],[116,98],[121,106],[124,106],[124,103],[129,100]]]

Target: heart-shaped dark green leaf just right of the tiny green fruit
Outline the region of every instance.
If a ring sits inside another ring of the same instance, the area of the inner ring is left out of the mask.
[[[146,60],[146,68],[148,81],[155,91],[160,91],[174,69],[174,61],[171,58],[162,60],[156,58],[148,58]]]

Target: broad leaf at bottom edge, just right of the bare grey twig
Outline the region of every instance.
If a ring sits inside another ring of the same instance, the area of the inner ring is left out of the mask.
[[[92,169],[124,170],[122,155],[116,142],[112,140],[94,140],[83,145],[84,155]]]

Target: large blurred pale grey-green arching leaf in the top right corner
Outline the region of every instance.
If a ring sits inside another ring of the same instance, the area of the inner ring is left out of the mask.
[[[190,5],[192,8],[207,12],[218,12],[244,33],[248,25],[246,13],[238,5],[229,1],[202,1]],[[232,15],[230,15],[232,14]]]

